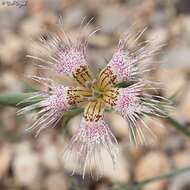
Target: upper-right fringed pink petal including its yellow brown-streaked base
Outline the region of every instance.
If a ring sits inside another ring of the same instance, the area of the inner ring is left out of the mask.
[[[150,59],[163,47],[152,40],[136,45],[136,49],[132,49],[128,46],[129,37],[127,35],[120,39],[111,60],[101,71],[98,80],[103,89],[123,81],[137,81],[142,74],[152,70],[149,67]],[[138,38],[137,36],[135,41]]]

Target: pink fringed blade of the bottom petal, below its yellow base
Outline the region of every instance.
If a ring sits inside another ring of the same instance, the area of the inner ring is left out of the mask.
[[[115,165],[116,144],[115,136],[102,118],[98,121],[87,121],[85,118],[82,118],[76,134],[72,137],[65,150],[65,161],[72,161],[74,164],[73,174],[77,170],[82,173],[84,178],[86,170],[89,169],[93,176],[93,166],[100,169],[103,167],[102,149],[107,150],[113,165]]]

